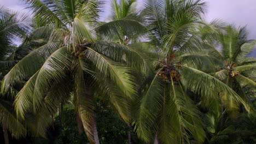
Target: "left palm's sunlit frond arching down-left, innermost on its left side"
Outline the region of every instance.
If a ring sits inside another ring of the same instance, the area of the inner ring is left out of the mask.
[[[63,46],[51,54],[38,72],[33,92],[33,110],[38,111],[44,99],[45,92],[51,88],[53,82],[60,82],[66,77],[66,71],[71,67],[71,54]]]

